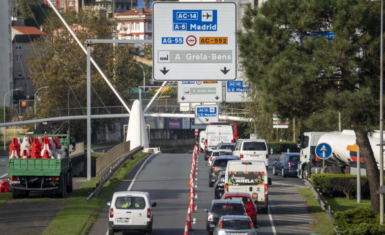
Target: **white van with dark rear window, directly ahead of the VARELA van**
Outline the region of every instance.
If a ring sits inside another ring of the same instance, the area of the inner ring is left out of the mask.
[[[232,152],[234,156],[241,157],[241,160],[264,161],[266,170],[269,171],[269,150],[265,140],[239,139]]]

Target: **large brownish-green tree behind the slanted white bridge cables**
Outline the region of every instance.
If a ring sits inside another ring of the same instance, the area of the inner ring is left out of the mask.
[[[111,39],[116,31],[116,21],[108,19],[102,11],[94,9],[81,9],[79,13],[64,11],[62,16],[80,42],[85,42],[87,39]],[[49,21],[44,24],[44,28],[47,35],[32,43],[34,55],[27,58],[31,79],[36,90],[49,86],[49,88],[39,91],[39,99],[36,104],[37,118],[67,116],[67,95],[70,87],[73,92],[70,91],[68,95],[69,106],[78,108],[71,115],[84,115],[86,54],[56,15],[49,16]],[[129,99],[127,90],[141,84],[143,80],[141,69],[129,57],[130,47],[129,45],[114,46],[112,44],[93,44],[91,47],[93,58],[125,100]],[[98,110],[98,114],[107,114],[110,110],[103,108],[104,106],[122,106],[93,65],[91,68],[92,107],[102,107]],[[29,115],[33,117],[33,114]],[[98,122],[114,128],[109,119],[98,120]],[[76,123],[76,121],[71,121],[71,133],[74,135],[84,130],[74,128]],[[84,124],[79,124],[79,127],[82,126]],[[83,136],[76,138],[85,139]]]

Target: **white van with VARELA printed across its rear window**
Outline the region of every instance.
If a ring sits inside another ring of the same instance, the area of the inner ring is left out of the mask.
[[[264,161],[229,161],[225,173],[225,193],[250,193],[258,208],[268,213],[268,185],[271,185]]]

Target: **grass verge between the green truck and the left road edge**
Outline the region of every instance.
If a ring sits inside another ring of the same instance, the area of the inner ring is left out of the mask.
[[[134,159],[126,161],[104,184],[98,196],[91,198],[88,202],[85,202],[85,199],[99,180],[85,182],[74,196],[67,199],[62,211],[57,214],[43,234],[87,234],[113,190],[127,176],[132,166],[147,154],[149,153],[138,153]]]

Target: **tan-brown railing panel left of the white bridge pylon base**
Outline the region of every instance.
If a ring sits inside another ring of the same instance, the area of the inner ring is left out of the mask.
[[[130,152],[130,141],[116,145],[110,151],[96,159],[96,176],[103,175],[114,165],[120,158]]]

